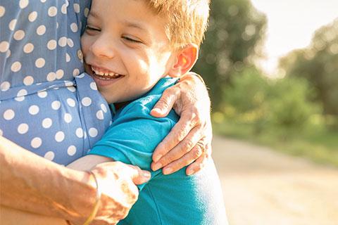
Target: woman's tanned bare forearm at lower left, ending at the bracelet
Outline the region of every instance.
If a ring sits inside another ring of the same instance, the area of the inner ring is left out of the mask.
[[[96,200],[94,179],[0,136],[0,203],[71,221],[86,218]]]

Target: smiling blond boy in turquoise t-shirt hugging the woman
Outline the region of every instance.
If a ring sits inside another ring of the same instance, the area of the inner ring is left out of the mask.
[[[188,72],[208,20],[208,0],[93,0],[81,44],[86,70],[115,115],[89,155],[69,167],[121,161],[151,171],[152,151],[178,120],[151,117],[163,91]],[[227,224],[218,175],[184,169],[139,186],[139,200],[119,224]]]

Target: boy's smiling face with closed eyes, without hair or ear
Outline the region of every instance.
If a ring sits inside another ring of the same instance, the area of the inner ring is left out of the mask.
[[[143,0],[93,0],[81,38],[86,72],[108,103],[149,91],[175,65],[165,21]]]

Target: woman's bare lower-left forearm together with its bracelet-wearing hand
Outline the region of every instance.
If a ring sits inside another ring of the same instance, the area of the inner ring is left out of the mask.
[[[96,183],[88,172],[68,169],[31,153],[0,136],[0,204],[83,224],[96,202]],[[121,162],[92,169],[104,188],[96,220],[112,224],[122,219],[137,200],[134,184],[149,179],[144,172]],[[124,197],[124,198],[121,198]]]

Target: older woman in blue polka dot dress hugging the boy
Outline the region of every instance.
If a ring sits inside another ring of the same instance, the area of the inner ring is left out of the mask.
[[[80,35],[89,7],[90,0],[0,3],[1,224],[46,218],[49,224],[82,224],[92,212],[94,178],[61,166],[85,155],[111,122],[94,82],[76,77],[84,72]],[[175,172],[196,159],[187,174],[203,166],[207,155],[195,145],[211,139],[206,104],[206,88],[194,75],[163,94],[152,114],[164,116],[175,105],[181,120],[156,148],[153,169]],[[101,185],[112,187],[101,195],[94,223],[122,219],[137,200],[134,184],[149,174],[119,162],[93,170]]]

